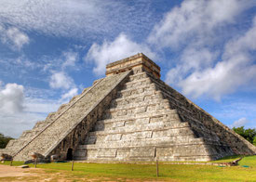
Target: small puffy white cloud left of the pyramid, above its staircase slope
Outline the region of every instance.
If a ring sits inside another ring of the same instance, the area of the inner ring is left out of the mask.
[[[74,86],[74,80],[63,71],[55,72],[50,77],[49,85],[52,88],[68,89]]]

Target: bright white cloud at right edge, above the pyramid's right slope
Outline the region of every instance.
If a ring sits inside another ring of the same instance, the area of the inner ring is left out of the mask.
[[[195,71],[180,82],[182,91],[194,97],[203,94],[220,99],[238,86],[249,84],[256,77],[256,64],[251,52],[256,51],[256,17],[244,35],[225,45],[222,61],[214,67]]]

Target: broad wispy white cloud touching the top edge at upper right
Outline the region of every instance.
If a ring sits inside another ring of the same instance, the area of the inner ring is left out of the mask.
[[[200,44],[212,36],[211,33],[216,28],[235,22],[236,16],[251,4],[251,1],[239,0],[183,1],[181,7],[172,8],[165,18],[155,25],[148,41],[157,47],[172,48],[187,45],[188,40]]]

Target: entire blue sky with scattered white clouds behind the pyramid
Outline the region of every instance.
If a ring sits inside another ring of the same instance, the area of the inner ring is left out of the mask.
[[[256,128],[256,3],[0,0],[0,133],[18,137],[139,52],[229,127]]]

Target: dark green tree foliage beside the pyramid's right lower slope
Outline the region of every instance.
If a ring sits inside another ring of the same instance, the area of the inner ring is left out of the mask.
[[[250,143],[256,146],[256,130],[255,129],[245,129],[244,126],[241,127],[234,127],[233,130],[236,134],[243,136],[247,139]]]

